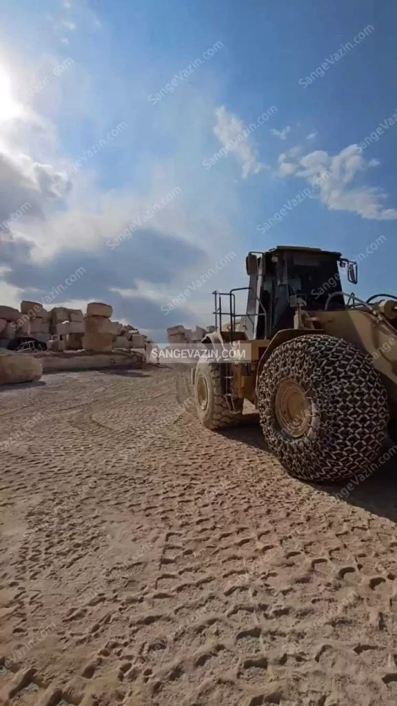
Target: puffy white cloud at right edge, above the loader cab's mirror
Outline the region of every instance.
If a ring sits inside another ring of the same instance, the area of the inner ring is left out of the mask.
[[[388,194],[378,187],[357,183],[368,167],[377,166],[374,161],[367,162],[358,145],[349,145],[334,156],[316,150],[302,157],[295,176],[309,182],[322,177],[319,198],[331,210],[352,211],[374,220],[392,220],[397,218],[397,209],[384,207]]]

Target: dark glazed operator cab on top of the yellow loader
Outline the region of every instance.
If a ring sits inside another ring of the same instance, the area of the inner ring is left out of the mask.
[[[293,296],[302,298],[308,311],[324,311],[333,294],[331,308],[345,309],[338,263],[347,264],[340,253],[317,248],[278,246],[266,253],[249,253],[247,337],[269,339],[281,329],[293,328]]]

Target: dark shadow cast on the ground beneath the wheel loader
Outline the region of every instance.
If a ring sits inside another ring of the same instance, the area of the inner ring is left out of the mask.
[[[268,451],[263,441],[257,414],[244,414],[242,424],[235,428],[224,429],[219,433],[261,451]],[[384,448],[382,453],[385,451],[387,448]],[[379,465],[365,480],[360,481],[358,477],[359,473],[355,477],[355,482],[350,479],[340,484],[308,483],[308,485],[334,496],[342,503],[355,505],[397,523],[397,456]]]

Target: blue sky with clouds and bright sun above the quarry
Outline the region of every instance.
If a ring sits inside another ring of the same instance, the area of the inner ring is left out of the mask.
[[[213,289],[244,286],[247,251],[275,244],[362,253],[357,292],[393,293],[397,8],[3,0],[1,15],[4,304],[47,302],[83,268],[53,306],[107,301],[162,340],[212,323]]]

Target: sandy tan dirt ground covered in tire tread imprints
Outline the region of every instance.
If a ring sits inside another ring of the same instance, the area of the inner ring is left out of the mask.
[[[395,705],[396,461],[290,479],[181,368],[2,388],[0,704]]]

